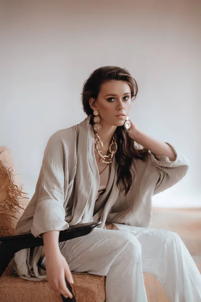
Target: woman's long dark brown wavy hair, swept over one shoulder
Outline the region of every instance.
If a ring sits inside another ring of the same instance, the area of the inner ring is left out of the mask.
[[[89,98],[92,97],[96,100],[101,86],[111,80],[127,82],[131,89],[131,99],[134,100],[136,98],[138,85],[126,68],[118,66],[103,66],[97,68],[84,82],[81,93],[83,110],[88,116],[91,114],[91,117],[93,117],[93,110],[89,105]],[[90,123],[92,123],[92,119]],[[124,126],[117,127],[115,133],[118,144],[116,153],[116,161],[118,164],[117,185],[120,187],[120,182],[122,181],[123,190],[125,190],[126,195],[130,190],[133,181],[133,175],[131,173],[133,160],[140,159],[145,162],[149,151],[145,148],[137,149],[134,145],[134,140],[128,135],[128,131]]]

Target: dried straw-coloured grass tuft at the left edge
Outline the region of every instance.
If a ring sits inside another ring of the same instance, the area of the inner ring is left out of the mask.
[[[4,152],[0,150],[0,155]],[[12,218],[19,209],[23,209],[21,199],[27,198],[22,192],[22,186],[18,187],[14,182],[15,175],[12,168],[7,168],[3,160],[0,160],[0,226],[9,226]]]

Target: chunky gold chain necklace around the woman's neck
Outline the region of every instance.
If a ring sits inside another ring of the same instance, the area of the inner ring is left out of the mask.
[[[104,144],[97,133],[95,133],[95,136],[96,136],[95,137],[95,139],[96,139],[95,148],[97,150],[97,153],[101,157],[102,162],[104,164],[111,164],[113,156],[117,152],[116,134],[113,135],[112,141],[109,146],[110,155],[103,155]],[[98,146],[98,144],[99,144],[99,146]]]

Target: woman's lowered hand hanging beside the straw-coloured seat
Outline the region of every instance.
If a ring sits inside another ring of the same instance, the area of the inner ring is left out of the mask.
[[[73,284],[72,274],[60,251],[48,253],[46,256],[46,275],[51,289],[72,298],[65,281],[66,278],[69,283]]]

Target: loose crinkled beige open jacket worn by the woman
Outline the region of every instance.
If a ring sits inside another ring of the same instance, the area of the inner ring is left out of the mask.
[[[18,221],[16,233],[31,232],[35,237],[69,225],[102,221],[149,227],[152,196],[181,180],[188,161],[171,144],[176,159],[147,156],[146,162],[134,159],[133,182],[128,194],[117,186],[117,162],[111,164],[106,191],[98,198],[103,205],[93,215],[99,188],[99,173],[94,155],[94,133],[90,116],[80,124],[55,132],[45,148],[35,193]],[[9,267],[20,277],[46,279],[38,265],[42,247],[24,249],[15,254]]]

